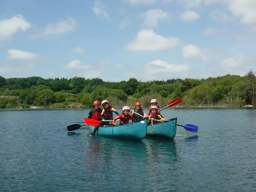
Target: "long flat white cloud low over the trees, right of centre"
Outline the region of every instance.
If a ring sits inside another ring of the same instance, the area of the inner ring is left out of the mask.
[[[145,72],[149,74],[182,73],[188,71],[189,66],[168,64],[166,61],[161,60],[148,62],[145,67]]]

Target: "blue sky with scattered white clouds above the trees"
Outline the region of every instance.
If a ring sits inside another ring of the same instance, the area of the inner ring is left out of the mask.
[[[201,79],[256,66],[256,0],[1,0],[0,76]]]

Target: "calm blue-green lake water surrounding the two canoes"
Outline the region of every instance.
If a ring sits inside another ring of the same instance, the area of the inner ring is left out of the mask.
[[[0,191],[256,190],[255,109],[168,108],[198,133],[141,141],[68,132],[88,111],[1,110]]]

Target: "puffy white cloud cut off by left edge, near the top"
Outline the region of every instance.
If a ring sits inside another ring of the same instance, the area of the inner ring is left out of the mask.
[[[0,40],[9,40],[18,31],[26,32],[30,27],[31,23],[22,15],[0,20]]]

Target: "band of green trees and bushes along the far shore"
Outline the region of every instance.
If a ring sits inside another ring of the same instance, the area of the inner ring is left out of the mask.
[[[180,96],[184,107],[241,107],[256,103],[256,73],[245,76],[226,75],[207,79],[168,79],[166,81],[106,82],[102,79],[41,77],[4,78],[0,76],[0,108],[93,107],[94,100],[109,100],[121,108],[141,102],[150,106],[157,99],[160,107]]]

